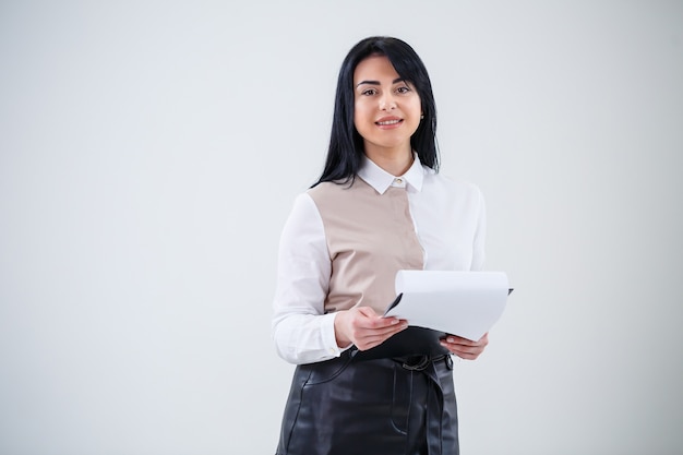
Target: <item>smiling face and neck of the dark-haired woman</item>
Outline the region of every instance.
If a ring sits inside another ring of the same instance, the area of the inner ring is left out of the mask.
[[[354,72],[354,124],[366,154],[411,156],[410,136],[420,124],[420,96],[385,56],[370,56]]]

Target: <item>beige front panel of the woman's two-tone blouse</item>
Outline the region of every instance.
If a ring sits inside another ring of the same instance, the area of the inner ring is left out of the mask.
[[[372,307],[382,314],[396,297],[396,272],[423,268],[408,194],[384,194],[357,177],[354,184],[324,182],[309,190],[323,219],[332,261],[325,312]]]

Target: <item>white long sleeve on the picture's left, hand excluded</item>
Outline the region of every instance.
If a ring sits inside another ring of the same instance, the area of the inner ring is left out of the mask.
[[[323,221],[313,200],[299,195],[280,237],[272,336],[290,363],[311,363],[340,355],[335,314],[325,314],[332,265]]]

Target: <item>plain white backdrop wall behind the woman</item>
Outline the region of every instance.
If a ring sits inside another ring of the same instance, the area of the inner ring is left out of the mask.
[[[464,454],[683,451],[680,1],[0,2],[0,453],[272,454],[279,232],[407,40],[515,292]]]

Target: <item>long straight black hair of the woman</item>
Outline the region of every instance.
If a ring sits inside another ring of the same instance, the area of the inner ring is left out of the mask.
[[[325,168],[315,184],[324,181],[348,182],[356,178],[363,155],[363,140],[354,124],[354,72],[358,63],[372,55],[386,56],[398,75],[415,86],[424,118],[410,137],[410,146],[422,165],[439,170],[436,105],[427,68],[407,43],[387,36],[372,36],[354,46],[342,63],[329,148]]]

